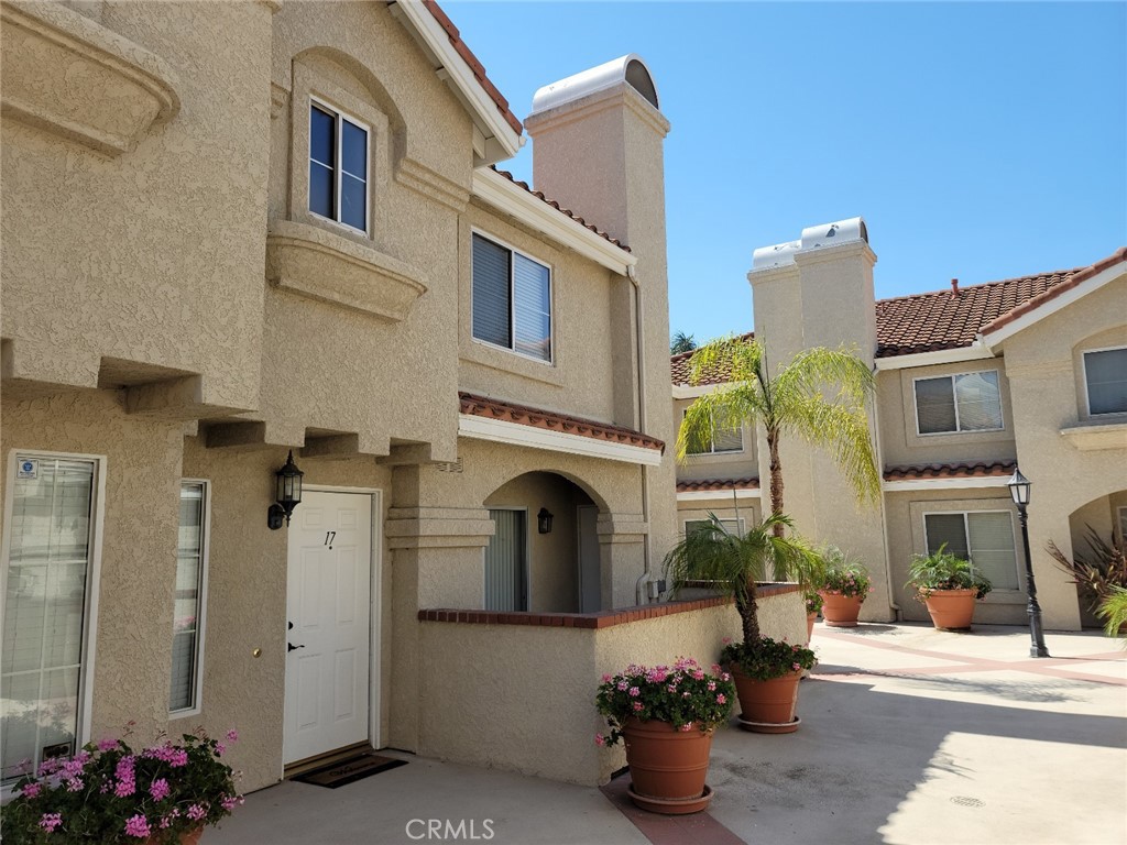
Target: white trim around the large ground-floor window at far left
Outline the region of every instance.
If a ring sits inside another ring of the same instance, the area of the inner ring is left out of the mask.
[[[90,724],[94,721],[94,677],[98,634],[98,594],[101,584],[101,544],[106,522],[106,455],[88,455],[79,452],[45,452],[42,450],[12,448],[8,452],[8,477],[6,490],[9,495],[3,508],[3,540],[0,542],[0,648],[3,641],[3,608],[8,597],[8,562],[11,554],[11,519],[16,484],[17,455],[28,457],[61,459],[66,461],[91,461],[94,463],[94,501],[90,507],[90,569],[86,589],[86,612],[82,619],[82,670],[79,674],[78,730],[76,750],[90,741]],[[0,799],[7,801],[14,793],[15,784],[0,790]]]

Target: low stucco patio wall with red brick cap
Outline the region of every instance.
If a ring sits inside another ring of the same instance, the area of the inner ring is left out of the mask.
[[[764,593],[773,593],[760,604],[764,634],[805,641],[798,588]],[[656,612],[667,615],[641,617]],[[418,753],[584,785],[606,783],[625,765],[621,746],[594,742],[606,727],[594,705],[604,673],[677,657],[709,666],[724,638],[739,637],[738,614],[718,599],[602,614],[420,616]]]

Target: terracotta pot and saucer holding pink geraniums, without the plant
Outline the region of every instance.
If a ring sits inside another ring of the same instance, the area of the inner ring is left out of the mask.
[[[699,812],[712,800],[704,783],[712,732],[677,730],[668,722],[630,719],[622,726],[630,799],[644,810],[683,815]]]

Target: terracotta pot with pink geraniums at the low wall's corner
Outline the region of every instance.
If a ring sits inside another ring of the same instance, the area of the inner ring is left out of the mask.
[[[673,666],[628,666],[604,675],[595,706],[610,732],[595,742],[625,740],[630,798],[646,810],[698,812],[712,800],[704,783],[716,727],[728,719],[736,690],[719,666],[712,674],[695,660]]]

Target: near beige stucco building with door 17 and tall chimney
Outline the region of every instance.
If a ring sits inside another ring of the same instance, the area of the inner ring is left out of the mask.
[[[0,10],[5,765],[132,720],[237,727],[248,790],[364,742],[605,779],[600,674],[737,622],[649,606],[678,527],[646,64],[536,95],[545,198],[492,169],[524,125],[434,3]],[[514,742],[545,665],[553,731]]]

